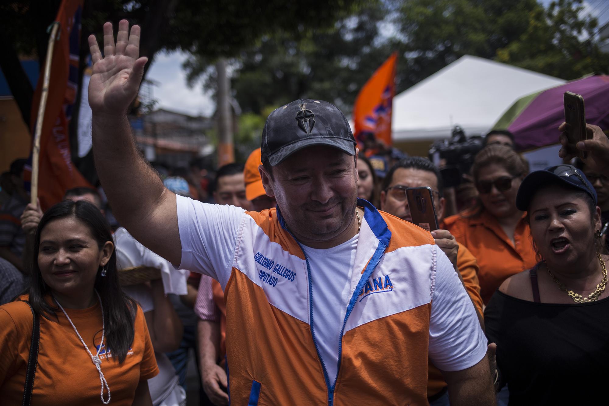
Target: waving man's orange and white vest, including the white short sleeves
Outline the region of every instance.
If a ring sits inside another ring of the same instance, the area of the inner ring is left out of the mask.
[[[337,377],[312,328],[309,262],[278,209],[244,212],[177,196],[180,268],[219,280],[235,405],[425,405],[428,360],[469,368],[487,341],[429,232],[364,200]],[[328,274],[328,283],[333,283]]]

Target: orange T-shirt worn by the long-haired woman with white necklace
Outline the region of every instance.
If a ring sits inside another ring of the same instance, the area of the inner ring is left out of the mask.
[[[104,309],[105,310],[105,309]],[[102,335],[99,303],[82,310],[66,309],[92,354]],[[27,304],[0,306],[0,394],[2,404],[21,404],[32,337],[32,312]],[[135,338],[122,364],[104,347],[102,372],[110,386],[112,405],[131,405],[142,379],[158,374],[157,360],[142,309],[135,317]],[[32,405],[96,405],[101,383],[91,357],[63,313],[57,319],[40,318],[40,351],[34,379]],[[104,391],[104,399],[108,399]]]

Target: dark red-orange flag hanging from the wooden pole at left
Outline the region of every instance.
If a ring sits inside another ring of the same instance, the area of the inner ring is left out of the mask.
[[[66,190],[90,183],[72,163],[68,126],[76,101],[79,71],[80,16],[83,0],[63,0],[54,24],[59,24],[53,48],[49,93],[43,123],[36,123],[43,72],[32,102],[32,134],[41,125],[38,196],[43,210],[62,201]],[[29,173],[31,176],[31,172]]]

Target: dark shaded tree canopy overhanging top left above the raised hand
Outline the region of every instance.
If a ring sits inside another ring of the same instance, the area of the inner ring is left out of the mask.
[[[140,53],[149,58],[147,66],[150,66],[154,55],[163,49],[183,49],[211,59],[231,57],[263,35],[278,30],[298,32],[331,26],[337,15],[350,9],[355,1],[310,0],[303,4],[279,0],[85,0],[81,72],[88,55],[86,38],[96,34],[98,41],[102,40],[105,21],[115,23],[115,29],[122,18],[139,24],[143,32]],[[0,2],[0,68],[27,124],[33,89],[19,64],[19,56],[33,55],[44,61],[46,29],[60,3],[60,0]]]

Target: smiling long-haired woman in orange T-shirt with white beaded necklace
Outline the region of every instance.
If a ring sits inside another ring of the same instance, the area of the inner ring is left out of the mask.
[[[141,308],[118,284],[107,221],[89,202],[63,201],[34,238],[29,292],[0,306],[2,404],[24,398],[33,310],[40,347],[31,404],[152,405],[147,379],[157,361]]]

